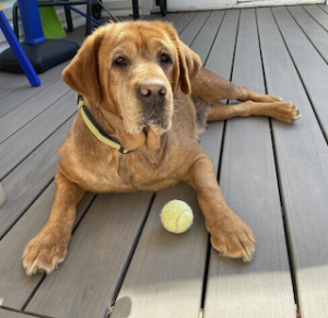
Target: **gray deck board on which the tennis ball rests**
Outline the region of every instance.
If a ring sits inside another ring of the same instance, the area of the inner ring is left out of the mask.
[[[218,23],[213,25],[213,21],[220,22],[222,16],[222,12],[211,14],[195,40],[187,34],[191,28],[187,27],[184,31],[185,38],[192,42],[191,49],[198,52],[202,60],[207,59],[220,26]],[[221,125],[212,123],[201,138],[201,144],[210,154],[215,169],[222,139],[220,132]],[[195,215],[192,227],[181,235],[165,231],[159,217],[164,204],[173,199],[186,201]],[[177,185],[159,192],[110,318],[197,318],[201,304],[208,243],[208,233],[196,192],[187,185]],[[151,303],[148,301],[149,295],[154,295]],[[159,310],[161,307],[165,310]]]

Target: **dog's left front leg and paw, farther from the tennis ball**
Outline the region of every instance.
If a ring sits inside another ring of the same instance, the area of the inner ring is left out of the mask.
[[[77,204],[84,195],[84,190],[66,178],[60,170],[57,172],[55,181],[57,192],[49,220],[23,252],[23,266],[27,275],[38,271],[50,273],[63,261],[75,220]]]

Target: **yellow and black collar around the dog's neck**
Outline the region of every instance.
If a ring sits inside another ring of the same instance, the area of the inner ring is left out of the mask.
[[[90,131],[95,136],[97,140],[101,142],[117,149],[120,153],[127,154],[131,151],[124,149],[121,143],[114,137],[109,136],[103,127],[93,118],[91,113],[85,106],[83,96],[80,94],[77,94],[77,101],[78,101],[78,108],[81,113],[81,116],[83,118],[83,121],[85,122],[86,127],[90,129]]]

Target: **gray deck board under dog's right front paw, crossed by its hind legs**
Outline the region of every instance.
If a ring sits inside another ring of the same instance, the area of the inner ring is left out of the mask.
[[[242,11],[232,80],[265,93],[253,9]],[[253,228],[256,254],[245,264],[232,259],[218,261],[212,249],[204,318],[294,318],[268,118],[235,118],[226,122],[220,185],[227,204]]]

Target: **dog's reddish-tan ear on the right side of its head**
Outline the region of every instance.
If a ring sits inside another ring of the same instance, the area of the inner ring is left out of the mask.
[[[162,24],[178,52],[179,82],[181,91],[184,94],[189,95],[191,93],[190,81],[198,74],[201,68],[200,57],[178,38],[176,31],[171,24]]]

